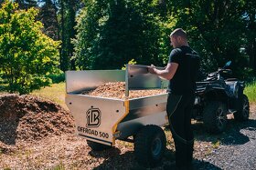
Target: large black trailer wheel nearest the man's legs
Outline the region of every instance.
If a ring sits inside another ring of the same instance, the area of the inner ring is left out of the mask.
[[[157,125],[145,125],[135,136],[134,153],[139,164],[155,167],[165,154],[166,138]]]

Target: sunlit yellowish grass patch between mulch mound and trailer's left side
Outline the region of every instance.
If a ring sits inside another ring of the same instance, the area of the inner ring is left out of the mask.
[[[30,95],[37,95],[42,98],[47,98],[67,108],[67,105],[65,105],[65,94],[66,94],[65,83],[59,83],[59,84],[53,84],[51,86],[44,87],[40,90],[35,90]]]

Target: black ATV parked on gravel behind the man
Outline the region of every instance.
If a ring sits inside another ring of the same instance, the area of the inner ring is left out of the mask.
[[[233,114],[238,121],[249,119],[250,105],[248,97],[243,94],[244,82],[232,77],[230,64],[231,61],[196,83],[192,118],[203,121],[209,133],[223,132],[229,114]]]

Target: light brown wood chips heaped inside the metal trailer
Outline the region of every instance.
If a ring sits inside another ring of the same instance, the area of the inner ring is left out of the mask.
[[[138,98],[149,95],[164,94],[166,89],[154,90],[130,90],[128,98]],[[85,91],[83,95],[93,95],[109,98],[125,99],[125,83],[124,82],[109,82],[97,87],[95,90]]]

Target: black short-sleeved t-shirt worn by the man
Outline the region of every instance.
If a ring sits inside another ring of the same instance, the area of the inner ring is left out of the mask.
[[[168,63],[178,64],[176,74],[170,80],[167,91],[174,95],[190,95],[196,90],[199,56],[189,46],[172,50]]]

